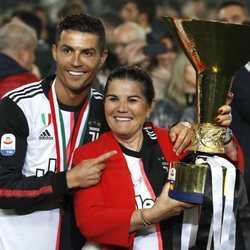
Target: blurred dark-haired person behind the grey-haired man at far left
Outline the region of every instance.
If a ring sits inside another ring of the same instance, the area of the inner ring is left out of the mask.
[[[51,65],[53,64],[53,58],[50,46],[48,45],[48,43],[46,43],[45,40],[41,39],[41,32],[42,32],[41,19],[31,11],[19,10],[15,11],[12,14],[11,21],[12,22],[21,21],[35,29],[38,37],[35,65],[37,65],[39,69],[40,77],[42,78],[46,77],[49,74]]]

